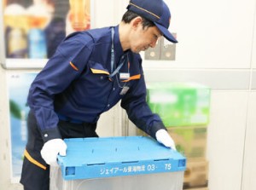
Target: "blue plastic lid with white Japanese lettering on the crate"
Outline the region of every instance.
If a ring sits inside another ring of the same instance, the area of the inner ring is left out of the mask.
[[[184,171],[186,158],[145,136],[65,139],[64,180]]]

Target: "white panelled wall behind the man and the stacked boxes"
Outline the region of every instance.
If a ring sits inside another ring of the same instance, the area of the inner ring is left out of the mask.
[[[128,0],[94,0],[94,27],[119,23]],[[177,33],[176,60],[143,62],[146,81],[189,81],[212,88],[207,158],[210,190],[256,189],[256,1],[166,0],[171,6],[171,31]],[[106,9],[108,8],[108,9]],[[107,16],[108,15],[108,16]],[[142,54],[143,55],[143,54]],[[0,187],[9,183],[9,125],[5,74],[0,69]],[[102,135],[124,135],[119,108],[104,115]],[[123,116],[123,117],[121,117]],[[116,120],[117,119],[117,120]],[[109,124],[109,123],[108,123]],[[127,130],[127,129],[126,129]],[[4,175],[3,175],[4,173]]]

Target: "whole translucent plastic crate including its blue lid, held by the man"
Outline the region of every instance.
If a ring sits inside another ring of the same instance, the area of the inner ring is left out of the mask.
[[[182,190],[186,158],[143,136],[67,139],[51,190]]]

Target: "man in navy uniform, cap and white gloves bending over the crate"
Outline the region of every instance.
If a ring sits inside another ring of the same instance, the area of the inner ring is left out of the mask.
[[[161,36],[177,43],[168,31],[170,10],[162,0],[131,0],[127,9],[118,26],[67,36],[33,81],[20,179],[25,190],[49,190],[49,165],[68,148],[62,139],[98,136],[96,123],[102,112],[119,101],[139,129],[175,149],[146,102],[139,55],[154,48]]]

